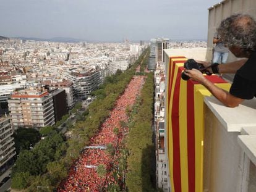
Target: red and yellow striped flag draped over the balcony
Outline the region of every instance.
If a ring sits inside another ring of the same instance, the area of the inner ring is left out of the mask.
[[[196,81],[181,79],[186,57],[169,57],[166,66],[166,145],[172,192],[203,191],[203,98],[210,92]],[[229,90],[230,84],[208,80]]]

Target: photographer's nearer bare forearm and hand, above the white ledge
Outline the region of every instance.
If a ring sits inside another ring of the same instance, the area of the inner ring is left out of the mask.
[[[215,98],[217,98],[227,107],[236,107],[242,101],[244,101],[244,99],[237,98],[236,96],[230,94],[228,91],[218,88],[218,86],[214,85],[213,83],[211,83],[211,81],[207,80],[207,78],[205,78],[203,74],[197,69],[186,69],[185,74],[192,78],[192,80],[198,81],[203,86],[205,86],[205,88],[207,88],[207,90],[209,90],[211,94],[215,96]]]

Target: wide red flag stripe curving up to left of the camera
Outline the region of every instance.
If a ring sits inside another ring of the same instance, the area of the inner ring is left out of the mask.
[[[181,192],[181,154],[179,146],[179,90],[181,85],[181,69],[178,70],[174,85],[173,108],[171,122],[173,125],[173,182],[175,192]]]

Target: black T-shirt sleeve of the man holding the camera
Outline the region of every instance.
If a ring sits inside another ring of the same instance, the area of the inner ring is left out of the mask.
[[[235,75],[229,93],[237,98],[252,99],[255,95],[256,82]]]

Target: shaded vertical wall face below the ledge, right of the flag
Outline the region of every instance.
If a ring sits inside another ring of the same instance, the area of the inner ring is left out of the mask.
[[[205,107],[205,140],[203,164],[203,190],[239,191],[242,170],[241,148],[237,143],[239,132],[228,132]]]

